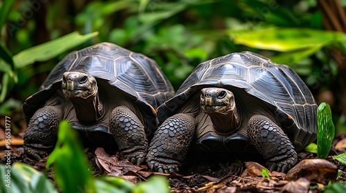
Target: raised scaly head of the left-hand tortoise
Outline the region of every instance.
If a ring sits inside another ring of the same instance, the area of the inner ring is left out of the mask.
[[[96,79],[82,72],[65,72],[62,75],[62,92],[67,98],[86,99],[98,92]]]

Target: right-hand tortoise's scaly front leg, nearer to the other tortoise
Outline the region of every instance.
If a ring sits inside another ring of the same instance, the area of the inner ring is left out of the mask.
[[[175,114],[156,130],[149,146],[147,164],[158,172],[178,172],[194,139],[196,121],[188,114]]]

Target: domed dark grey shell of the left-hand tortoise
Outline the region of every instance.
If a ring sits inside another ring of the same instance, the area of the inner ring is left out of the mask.
[[[62,74],[68,71],[84,72],[96,79],[107,80],[110,85],[129,94],[150,123],[156,121],[158,105],[174,95],[174,88],[154,60],[113,43],[98,43],[71,52],[57,63],[39,92],[29,96],[23,104],[27,121],[55,90],[61,88]]]

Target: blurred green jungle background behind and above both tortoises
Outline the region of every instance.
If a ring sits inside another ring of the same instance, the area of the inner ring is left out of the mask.
[[[322,1],[0,2],[1,114],[20,111],[19,104],[37,92],[67,53],[108,41],[154,59],[176,89],[202,61],[231,52],[257,52],[298,72],[318,104],[331,105],[336,130],[346,130],[345,31],[329,28],[335,23],[346,26],[345,18],[338,10],[326,11]],[[346,0],[337,2],[345,8]],[[85,39],[55,44],[67,34]],[[51,55],[42,58],[30,51],[47,42],[51,44],[41,48]],[[26,59],[18,59],[23,52],[29,53]]]

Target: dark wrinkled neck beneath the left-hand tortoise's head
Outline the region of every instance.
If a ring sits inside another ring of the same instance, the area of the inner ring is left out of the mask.
[[[73,103],[75,114],[80,123],[95,123],[102,117],[103,109],[97,92],[86,98],[76,96],[70,98],[70,100]]]

